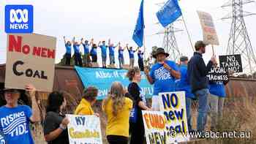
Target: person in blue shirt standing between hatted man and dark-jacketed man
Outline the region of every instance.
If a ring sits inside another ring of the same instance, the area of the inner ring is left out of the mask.
[[[186,93],[187,125],[189,132],[192,132],[191,104],[192,100],[195,99],[195,95],[192,94],[189,79],[187,77],[187,63],[189,58],[187,58],[187,56],[181,56],[180,61],[181,65],[179,67],[179,72],[181,72],[181,79],[176,82],[176,91],[185,91]]]

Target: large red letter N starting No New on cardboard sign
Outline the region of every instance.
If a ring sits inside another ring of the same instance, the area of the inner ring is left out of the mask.
[[[20,36],[16,40],[14,35],[9,35],[9,51],[15,49],[16,52],[21,52],[21,40],[22,37]]]

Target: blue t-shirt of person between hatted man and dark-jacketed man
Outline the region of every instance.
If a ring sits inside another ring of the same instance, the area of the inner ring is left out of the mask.
[[[195,99],[195,96],[191,91],[191,86],[189,85],[189,79],[187,77],[187,66],[181,65],[181,67],[179,67],[179,72],[181,72],[181,79],[176,83],[176,91],[185,91],[186,97]]]

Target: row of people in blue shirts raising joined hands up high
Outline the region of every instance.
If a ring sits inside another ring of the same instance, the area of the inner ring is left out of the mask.
[[[124,48],[121,47],[121,42],[118,42],[118,45],[114,45],[110,39],[108,40],[108,45],[105,41],[99,41],[98,44],[94,43],[94,39],[91,39],[91,42],[88,40],[84,40],[83,38],[80,39],[80,42],[75,42],[75,37],[72,39],[72,42],[67,41],[66,37],[64,37],[64,44],[66,48],[66,53],[64,55],[65,64],[70,65],[71,59],[71,51],[72,46],[74,49],[74,56],[75,56],[75,66],[79,67],[90,67],[91,64],[97,64],[98,61],[98,54],[97,49],[100,48],[101,50],[101,58],[102,58],[102,68],[107,68],[107,57],[109,58],[110,65],[116,64],[115,60],[115,51],[118,50],[118,63],[119,68],[123,69],[124,67],[124,50],[127,49],[129,53],[129,68],[134,67],[135,64],[135,52],[138,51],[138,66],[140,70],[143,71],[143,55],[144,52],[137,48],[134,50],[129,45],[125,45]],[[80,45],[83,45],[83,54],[80,51]],[[108,50],[108,55],[107,55]],[[82,58],[83,57],[83,58]]]

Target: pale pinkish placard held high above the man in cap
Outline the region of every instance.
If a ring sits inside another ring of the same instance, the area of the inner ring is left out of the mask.
[[[219,45],[219,39],[214,26],[214,20],[207,12],[197,11],[203,29],[203,42],[209,45]]]

